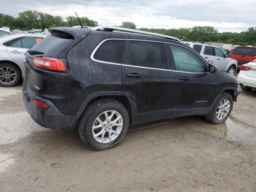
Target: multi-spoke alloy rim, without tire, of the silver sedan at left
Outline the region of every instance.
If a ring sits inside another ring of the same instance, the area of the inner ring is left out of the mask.
[[[17,78],[16,71],[11,67],[0,68],[0,82],[3,84],[11,84]]]

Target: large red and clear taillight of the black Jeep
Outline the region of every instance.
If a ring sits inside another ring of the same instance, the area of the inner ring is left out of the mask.
[[[62,60],[54,58],[36,57],[33,60],[34,66],[46,70],[65,71],[65,64]]]

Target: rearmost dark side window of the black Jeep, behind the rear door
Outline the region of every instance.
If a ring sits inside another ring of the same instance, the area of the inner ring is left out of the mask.
[[[112,63],[121,63],[125,40],[107,40],[100,45],[94,59]]]

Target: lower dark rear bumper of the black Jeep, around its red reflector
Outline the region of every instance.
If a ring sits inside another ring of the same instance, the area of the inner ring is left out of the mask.
[[[33,102],[34,99],[46,103],[49,108],[38,108]],[[28,90],[25,83],[23,84],[22,100],[28,114],[39,125],[55,130],[72,130],[76,128],[77,116],[62,114],[52,102],[40,98],[34,92]]]

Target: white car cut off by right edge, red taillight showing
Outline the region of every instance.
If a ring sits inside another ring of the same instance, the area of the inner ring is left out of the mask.
[[[256,89],[256,60],[240,66],[237,80],[244,91]]]

